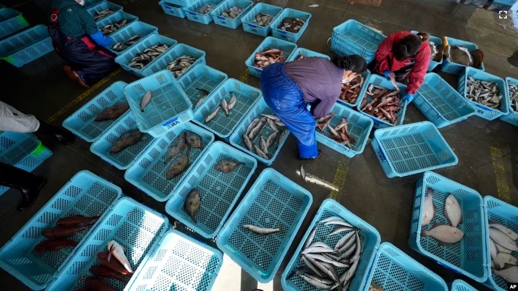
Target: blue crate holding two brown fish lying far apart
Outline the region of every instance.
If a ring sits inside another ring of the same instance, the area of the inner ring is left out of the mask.
[[[230,158],[242,164],[228,172],[215,169],[219,162]],[[253,157],[224,142],[215,141],[167,201],[165,211],[203,237],[214,237],[218,235],[256,167],[257,161]],[[185,198],[194,189],[200,196],[196,222],[185,212],[183,206]]]

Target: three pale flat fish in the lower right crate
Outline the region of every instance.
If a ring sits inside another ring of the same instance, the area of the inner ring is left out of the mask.
[[[434,220],[436,207],[434,205],[433,196],[434,190],[428,188],[423,205],[423,218],[421,219],[422,227],[426,227],[432,220]],[[421,237],[433,237],[440,245],[454,244],[464,238],[464,231],[457,228],[462,224],[462,210],[457,198],[453,194],[448,195],[444,201],[444,217],[450,225],[442,223],[434,223],[430,230],[421,229]]]

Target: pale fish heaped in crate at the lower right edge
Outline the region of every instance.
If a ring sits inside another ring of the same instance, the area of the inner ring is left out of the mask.
[[[491,271],[502,277],[509,283],[518,283],[518,267],[516,266],[516,254],[518,252],[518,234],[492,220],[489,226],[489,246],[491,254]]]

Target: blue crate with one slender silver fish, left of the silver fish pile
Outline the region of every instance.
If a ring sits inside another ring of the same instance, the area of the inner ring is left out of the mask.
[[[266,168],[229,217],[216,243],[254,279],[268,283],[274,279],[312,202],[306,189]],[[282,226],[282,232],[258,235],[243,228],[245,224]]]

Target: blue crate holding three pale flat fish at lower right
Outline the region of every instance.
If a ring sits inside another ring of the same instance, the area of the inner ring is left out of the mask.
[[[434,190],[434,205],[437,210],[428,225],[422,225],[423,203],[428,188]],[[463,223],[458,227],[464,231],[464,238],[451,245],[440,245],[432,237],[421,237],[421,230],[430,230],[434,223],[450,225],[444,216],[444,201],[453,194],[461,205]],[[408,244],[410,248],[429,257],[441,266],[478,282],[487,280],[486,241],[484,230],[484,209],[482,196],[477,191],[427,171],[415,187],[412,223]]]

